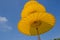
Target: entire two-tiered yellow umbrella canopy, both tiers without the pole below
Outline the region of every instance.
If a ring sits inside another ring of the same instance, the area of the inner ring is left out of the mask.
[[[48,32],[54,25],[55,17],[46,12],[42,4],[33,0],[24,5],[18,30],[25,35],[36,36]]]

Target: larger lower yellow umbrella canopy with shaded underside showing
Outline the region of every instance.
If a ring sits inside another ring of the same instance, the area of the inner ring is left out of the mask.
[[[52,14],[34,13],[19,21],[18,30],[23,34],[34,36],[48,32],[54,24],[55,17]]]

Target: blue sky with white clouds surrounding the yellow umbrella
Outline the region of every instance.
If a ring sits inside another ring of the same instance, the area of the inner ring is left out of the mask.
[[[28,0],[0,0],[0,40],[37,40],[37,36],[26,36],[17,30],[20,13]],[[47,12],[56,17],[52,30],[40,35],[41,40],[60,38],[60,0],[38,0]]]

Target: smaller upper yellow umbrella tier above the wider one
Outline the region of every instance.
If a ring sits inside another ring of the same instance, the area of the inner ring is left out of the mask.
[[[38,3],[37,1],[28,1],[25,5],[24,8],[22,9],[21,12],[21,17],[24,18],[27,15],[30,15],[32,13],[36,13],[36,12],[46,12],[45,7]]]

